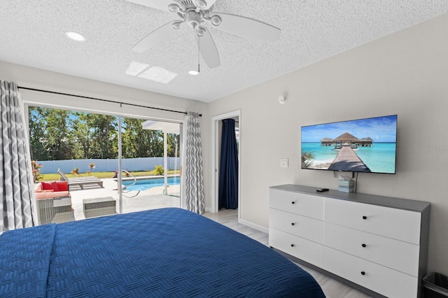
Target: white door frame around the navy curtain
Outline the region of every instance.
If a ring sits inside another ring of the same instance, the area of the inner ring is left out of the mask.
[[[221,115],[216,115],[211,120],[212,129],[212,144],[211,144],[211,154],[212,154],[212,201],[211,201],[211,212],[217,213],[218,210],[218,192],[219,192],[219,170],[220,170],[220,159],[221,159],[221,132],[222,132],[222,121],[224,119],[232,118],[235,119],[235,135],[237,136],[237,147],[238,147],[238,161],[241,164],[241,110],[232,111],[230,113],[225,113]],[[241,166],[238,166],[238,220],[240,218],[241,211]]]

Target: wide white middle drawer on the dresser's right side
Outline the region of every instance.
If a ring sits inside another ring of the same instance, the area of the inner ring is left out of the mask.
[[[420,247],[412,243],[325,222],[325,246],[412,276],[419,275]]]

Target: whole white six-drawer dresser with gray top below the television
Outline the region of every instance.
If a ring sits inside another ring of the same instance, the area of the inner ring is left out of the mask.
[[[421,297],[430,203],[269,188],[269,246],[374,297]]]

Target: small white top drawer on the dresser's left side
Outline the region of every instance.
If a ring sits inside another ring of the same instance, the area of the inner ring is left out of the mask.
[[[323,204],[323,197],[269,189],[270,208],[323,220]]]

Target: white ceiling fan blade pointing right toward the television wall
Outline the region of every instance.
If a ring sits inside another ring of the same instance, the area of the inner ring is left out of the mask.
[[[221,24],[216,26],[216,29],[260,41],[278,41],[280,38],[281,29],[265,22],[228,13],[216,13],[215,15],[221,17]]]

